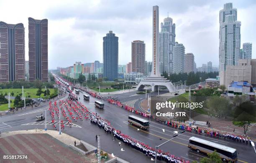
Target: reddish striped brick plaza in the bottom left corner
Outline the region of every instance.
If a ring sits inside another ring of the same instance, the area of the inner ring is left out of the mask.
[[[12,144],[17,149],[12,147]],[[3,160],[3,155],[27,155],[28,159]],[[91,161],[48,134],[18,134],[0,138],[0,163],[9,162],[89,163]]]

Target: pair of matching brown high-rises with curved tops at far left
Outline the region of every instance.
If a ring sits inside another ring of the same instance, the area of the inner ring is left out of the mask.
[[[23,23],[0,21],[0,82],[25,79]],[[48,20],[28,18],[29,81],[48,81]]]

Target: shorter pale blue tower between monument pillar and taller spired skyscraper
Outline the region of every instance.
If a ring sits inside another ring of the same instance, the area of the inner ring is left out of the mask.
[[[161,23],[162,26],[162,23]],[[169,32],[166,28],[162,28],[159,33],[159,62],[160,73],[170,73],[170,48],[169,48]]]

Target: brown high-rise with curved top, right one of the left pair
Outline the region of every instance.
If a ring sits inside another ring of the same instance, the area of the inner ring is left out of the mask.
[[[29,80],[48,81],[48,20],[28,18]]]

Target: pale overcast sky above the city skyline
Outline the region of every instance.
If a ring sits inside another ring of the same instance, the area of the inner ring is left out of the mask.
[[[241,21],[241,46],[253,43],[256,58],[255,0],[0,0],[0,21],[25,26],[28,60],[28,17],[48,19],[49,69],[102,62],[102,37],[111,30],[119,37],[119,64],[131,61],[131,42],[146,43],[146,60],[152,60],[152,6],[176,24],[176,41],[193,53],[198,66],[218,66],[219,10],[232,2]]]

